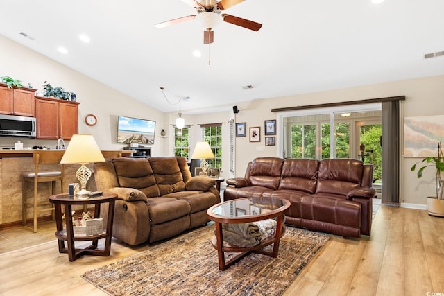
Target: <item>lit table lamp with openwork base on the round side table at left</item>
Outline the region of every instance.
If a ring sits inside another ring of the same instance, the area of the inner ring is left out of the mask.
[[[78,195],[87,195],[86,184],[91,177],[91,171],[85,166],[91,162],[105,162],[99,146],[91,134],[74,134],[69,141],[67,150],[60,160],[60,164],[81,164],[76,172],[80,182]]]

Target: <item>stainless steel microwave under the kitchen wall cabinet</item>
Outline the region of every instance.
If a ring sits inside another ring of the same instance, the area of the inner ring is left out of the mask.
[[[0,114],[0,136],[35,138],[35,117]]]

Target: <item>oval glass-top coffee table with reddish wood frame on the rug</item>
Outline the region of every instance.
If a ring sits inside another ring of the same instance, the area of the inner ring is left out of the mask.
[[[289,207],[290,202],[280,198],[239,198],[237,200],[221,202],[210,207],[210,209],[207,210],[207,216],[210,220],[214,221],[216,225],[216,235],[212,238],[212,245],[217,250],[219,256],[219,269],[225,270],[229,268],[250,252],[276,258],[279,252],[280,238],[285,230],[283,217]],[[271,218],[276,218],[278,222],[275,236],[261,241],[259,245],[255,245],[254,247],[238,247],[223,241],[222,224],[224,223],[250,223]],[[271,252],[262,250],[271,244],[273,244],[273,250]],[[225,261],[225,252],[239,254]]]

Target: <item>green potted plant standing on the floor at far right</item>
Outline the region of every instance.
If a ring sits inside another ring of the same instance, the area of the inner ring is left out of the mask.
[[[425,168],[435,168],[436,170],[436,196],[427,197],[427,210],[429,215],[444,217],[444,180],[442,178],[444,172],[444,155],[441,142],[438,143],[438,155],[425,157],[421,162],[413,164],[411,171],[416,170],[416,165],[422,164],[416,173],[418,178],[422,177],[422,172]]]

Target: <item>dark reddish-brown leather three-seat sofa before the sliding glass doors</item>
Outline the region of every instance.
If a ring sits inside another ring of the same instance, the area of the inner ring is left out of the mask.
[[[345,237],[370,235],[373,165],[357,159],[261,157],[244,178],[227,180],[223,200],[284,198],[286,224]]]

